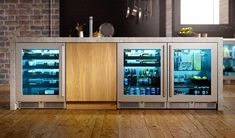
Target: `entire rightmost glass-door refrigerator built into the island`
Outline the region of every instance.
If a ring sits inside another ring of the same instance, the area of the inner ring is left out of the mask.
[[[168,46],[169,108],[216,108],[217,44],[170,43]]]

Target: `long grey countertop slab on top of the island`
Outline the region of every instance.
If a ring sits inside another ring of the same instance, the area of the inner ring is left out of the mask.
[[[218,42],[222,37],[18,37],[15,42]]]

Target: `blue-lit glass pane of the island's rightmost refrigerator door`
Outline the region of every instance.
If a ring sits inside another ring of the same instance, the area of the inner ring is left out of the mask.
[[[174,94],[211,94],[211,50],[174,50]]]

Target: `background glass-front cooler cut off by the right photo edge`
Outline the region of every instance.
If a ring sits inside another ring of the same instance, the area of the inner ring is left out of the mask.
[[[224,39],[223,74],[224,80],[235,80],[235,39]]]

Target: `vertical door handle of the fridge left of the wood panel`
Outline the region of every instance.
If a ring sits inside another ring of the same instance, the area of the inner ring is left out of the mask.
[[[62,51],[61,51],[61,54],[62,54],[62,62],[61,62],[61,69],[62,69],[62,77],[61,77],[61,84],[62,84],[62,92],[61,92],[61,96],[62,97],[65,97],[65,45],[63,44],[62,45]]]

